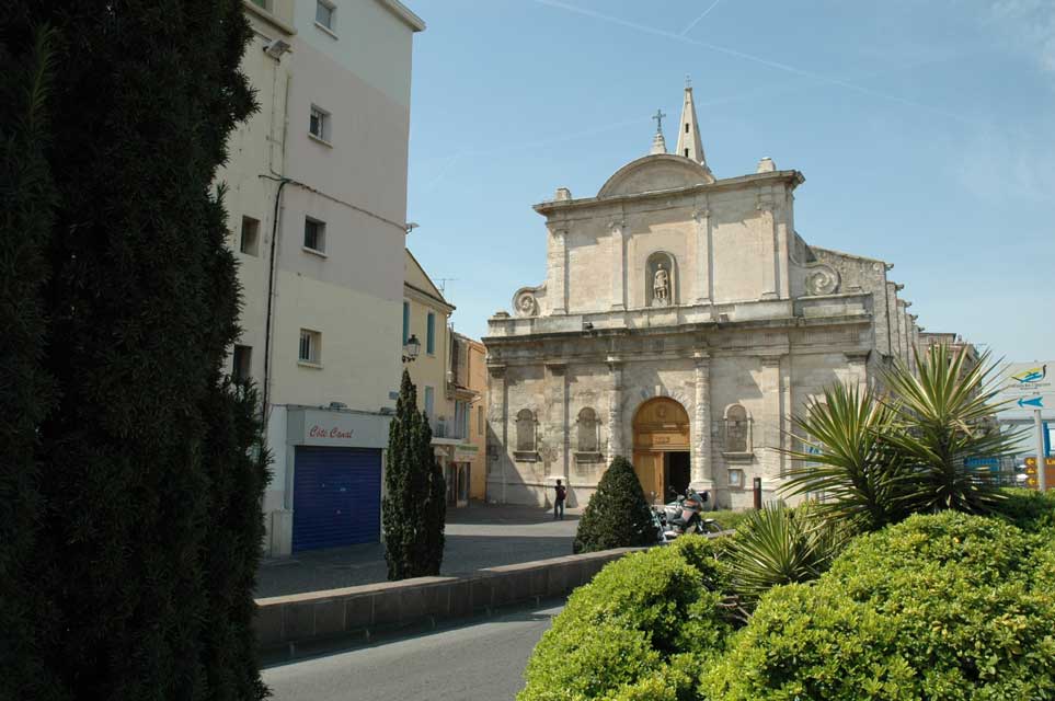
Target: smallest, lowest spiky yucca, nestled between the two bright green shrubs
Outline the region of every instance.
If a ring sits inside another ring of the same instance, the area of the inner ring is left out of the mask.
[[[809,582],[824,573],[844,538],[832,521],[782,503],[752,512],[727,544],[725,565],[741,602],[752,606],[781,584]]]

